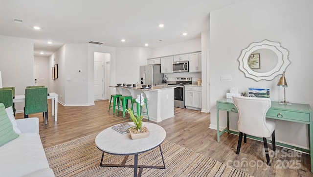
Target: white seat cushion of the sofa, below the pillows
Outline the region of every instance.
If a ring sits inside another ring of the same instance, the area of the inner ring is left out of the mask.
[[[39,134],[22,133],[1,146],[0,167],[0,177],[22,177],[49,168]]]

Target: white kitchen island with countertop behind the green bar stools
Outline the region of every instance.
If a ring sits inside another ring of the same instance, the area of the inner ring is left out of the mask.
[[[133,98],[137,98],[137,95],[143,93],[143,97],[147,98],[147,105],[149,111],[149,119],[155,122],[160,122],[167,118],[174,117],[174,88],[167,86],[152,86],[151,88],[141,87],[118,87],[116,88],[116,94],[129,95]],[[129,104],[129,107],[130,104]],[[136,106],[134,105],[134,109]],[[134,110],[135,111],[135,110]],[[142,109],[146,112],[146,108]],[[144,116],[147,118],[147,115]]]

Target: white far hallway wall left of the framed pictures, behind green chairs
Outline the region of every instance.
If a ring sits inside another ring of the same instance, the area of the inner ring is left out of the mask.
[[[38,66],[37,85],[45,85],[45,87],[48,88],[48,92],[50,92],[49,84],[51,78],[49,73],[51,69],[49,65],[49,57],[34,56],[34,65]]]

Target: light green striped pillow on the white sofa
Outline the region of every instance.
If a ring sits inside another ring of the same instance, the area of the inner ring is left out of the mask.
[[[0,103],[0,146],[18,138],[19,135],[14,132],[10,118],[6,114],[3,103]]]

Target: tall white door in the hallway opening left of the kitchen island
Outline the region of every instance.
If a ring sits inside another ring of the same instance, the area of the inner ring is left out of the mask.
[[[103,99],[103,62],[94,62],[94,100]]]

